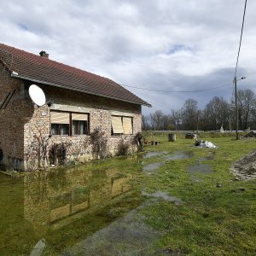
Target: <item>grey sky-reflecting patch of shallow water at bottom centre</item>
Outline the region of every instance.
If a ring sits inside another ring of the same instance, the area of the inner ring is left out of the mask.
[[[137,209],[143,207],[140,206]],[[97,231],[62,255],[154,255],[161,234],[140,221],[137,209]]]

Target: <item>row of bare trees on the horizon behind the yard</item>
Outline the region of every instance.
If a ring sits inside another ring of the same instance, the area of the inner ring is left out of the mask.
[[[256,130],[256,96],[253,90],[237,91],[239,130]],[[227,102],[214,96],[204,109],[198,109],[197,101],[188,99],[180,109],[170,109],[164,114],[156,110],[143,116],[143,130],[153,131],[212,131],[223,125],[225,131],[236,130],[235,100]]]

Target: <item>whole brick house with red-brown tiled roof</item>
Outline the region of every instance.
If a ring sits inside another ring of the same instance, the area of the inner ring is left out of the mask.
[[[48,104],[29,96],[40,87]],[[0,162],[30,170],[116,154],[141,131],[142,105],[111,79],[0,44]]]

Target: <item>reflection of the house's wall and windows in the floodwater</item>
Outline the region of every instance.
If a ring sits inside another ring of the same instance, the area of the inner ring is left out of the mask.
[[[25,218],[38,227],[67,224],[131,189],[131,174],[82,168],[26,174]]]

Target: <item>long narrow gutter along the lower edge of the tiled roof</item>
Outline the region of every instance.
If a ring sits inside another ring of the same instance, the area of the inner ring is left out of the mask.
[[[61,89],[67,89],[67,88],[63,88],[63,86],[61,86],[59,84],[46,83],[46,82],[43,82],[43,81],[40,81],[40,80],[37,80],[37,79],[28,79],[26,77],[20,76],[18,73],[15,73],[15,72],[11,73],[11,77],[14,78],[14,79],[23,79],[23,80],[31,81],[31,82],[38,83],[38,84],[52,85],[52,86],[55,86],[55,87],[59,87]],[[113,100],[117,100],[117,101],[121,101],[121,102],[129,102],[129,103],[133,103],[133,104],[137,104],[137,105],[143,105],[143,106],[146,106],[148,108],[152,108],[152,105],[150,105],[148,103],[143,104],[143,103],[138,103],[138,102],[131,102],[131,101],[122,100],[122,99],[119,99],[119,98],[116,98],[116,97],[113,97],[113,96],[103,96],[102,94],[91,93],[91,92],[87,92],[87,91],[84,91],[84,90],[75,90],[75,89],[67,89],[67,90],[79,91],[79,92],[87,93],[87,94],[94,95],[94,96],[101,96],[101,97],[105,97],[105,98],[108,98],[108,99],[113,99]]]

